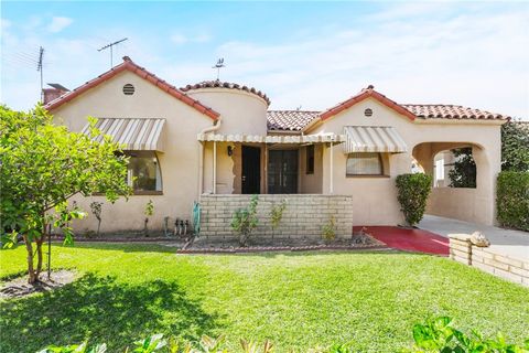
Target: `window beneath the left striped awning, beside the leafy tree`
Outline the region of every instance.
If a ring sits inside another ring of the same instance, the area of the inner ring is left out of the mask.
[[[162,191],[162,173],[154,151],[129,151],[127,183],[134,193]]]

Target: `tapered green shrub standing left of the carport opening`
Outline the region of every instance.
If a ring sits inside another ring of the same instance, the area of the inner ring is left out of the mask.
[[[397,176],[397,200],[399,200],[400,211],[404,214],[404,220],[409,225],[413,226],[422,220],[431,185],[432,178],[427,174],[401,174]]]

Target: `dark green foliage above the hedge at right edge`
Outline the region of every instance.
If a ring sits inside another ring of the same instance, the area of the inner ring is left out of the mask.
[[[529,171],[529,122],[508,121],[501,126],[501,170]]]

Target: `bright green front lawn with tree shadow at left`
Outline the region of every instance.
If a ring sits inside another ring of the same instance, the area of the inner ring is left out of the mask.
[[[22,247],[0,252],[0,278],[24,271]],[[107,342],[116,352],[163,332],[270,339],[279,351],[349,343],[409,347],[413,323],[450,315],[458,328],[522,342],[529,290],[445,258],[402,253],[175,255],[158,245],[53,248],[79,278],[51,293],[1,302],[0,352]]]

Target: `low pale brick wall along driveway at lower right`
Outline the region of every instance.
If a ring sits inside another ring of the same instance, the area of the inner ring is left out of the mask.
[[[450,258],[529,287],[529,261],[507,257],[471,242],[468,234],[450,234]]]

